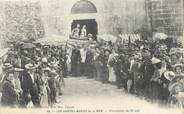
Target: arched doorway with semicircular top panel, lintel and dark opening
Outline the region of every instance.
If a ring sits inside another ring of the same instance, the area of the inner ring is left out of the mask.
[[[88,0],[80,0],[73,5],[71,14],[74,16],[71,23],[71,30],[73,30],[77,24],[80,24],[81,28],[83,25],[86,25],[87,34],[92,34],[96,39],[98,34],[98,24],[95,16],[90,16],[97,14],[96,6]],[[80,16],[83,18],[81,19]]]

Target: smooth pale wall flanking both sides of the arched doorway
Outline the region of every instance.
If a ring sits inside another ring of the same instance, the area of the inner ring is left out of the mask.
[[[80,0],[45,0],[45,16],[54,34],[68,34],[72,23],[72,6]],[[134,33],[146,22],[145,0],[88,0],[97,8],[98,33]],[[84,9],[85,10],[85,9]],[[79,15],[82,16],[83,14]],[[91,18],[90,14],[86,14]],[[56,25],[56,26],[55,26]],[[48,29],[49,29],[48,28]]]

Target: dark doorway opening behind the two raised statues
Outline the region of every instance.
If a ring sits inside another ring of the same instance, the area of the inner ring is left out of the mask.
[[[86,25],[87,34],[92,34],[96,40],[98,34],[98,25],[95,19],[73,20],[71,30],[73,30],[77,24],[80,24],[80,29],[83,25]]]

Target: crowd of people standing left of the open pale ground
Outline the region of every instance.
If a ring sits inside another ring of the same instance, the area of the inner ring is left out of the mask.
[[[52,107],[65,87],[65,54],[62,47],[14,43],[4,57],[1,105]]]

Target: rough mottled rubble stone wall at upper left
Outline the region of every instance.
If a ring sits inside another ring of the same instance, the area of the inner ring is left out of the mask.
[[[39,1],[2,1],[1,36],[6,41],[35,39],[44,36]]]

